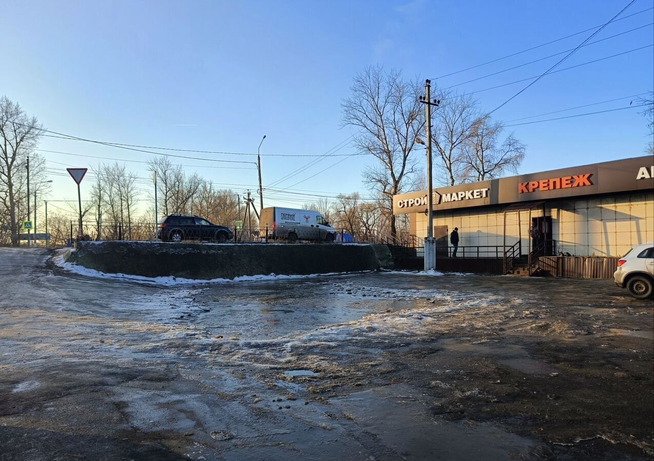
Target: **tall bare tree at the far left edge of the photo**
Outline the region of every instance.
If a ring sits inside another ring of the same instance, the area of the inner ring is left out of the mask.
[[[18,103],[6,96],[0,98],[0,193],[7,214],[12,246],[18,246],[18,222],[21,202],[29,200],[23,189],[27,155],[39,143],[42,127],[35,117],[29,117]],[[37,165],[31,165],[37,173]],[[35,174],[36,177],[36,174]],[[26,210],[26,207],[24,207]]]

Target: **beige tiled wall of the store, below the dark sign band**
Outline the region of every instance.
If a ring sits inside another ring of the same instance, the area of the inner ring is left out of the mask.
[[[495,246],[502,255],[504,208],[437,211],[434,225],[447,225],[449,232],[458,227],[460,247],[490,246],[480,248],[480,256],[494,256]],[[532,210],[532,217],[542,214],[542,206]],[[546,202],[545,215],[552,217],[552,238],[556,240],[557,252],[576,256],[622,256],[636,244],[654,242],[654,193],[651,192]],[[426,215],[413,213],[410,220],[411,231],[415,229],[417,236],[424,238]],[[521,235],[523,254],[526,254],[529,228],[527,211],[520,212],[520,225],[518,212],[507,212],[507,246],[518,242]],[[476,248],[470,251],[476,254]]]

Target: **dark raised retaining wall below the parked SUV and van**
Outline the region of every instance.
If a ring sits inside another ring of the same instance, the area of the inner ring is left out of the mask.
[[[67,262],[105,273],[145,277],[232,279],[356,272],[393,265],[385,245],[77,242],[75,247]]]

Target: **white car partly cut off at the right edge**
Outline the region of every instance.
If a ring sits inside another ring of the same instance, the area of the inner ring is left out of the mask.
[[[627,251],[617,262],[613,280],[636,299],[651,297],[654,293],[654,244],[636,245]]]

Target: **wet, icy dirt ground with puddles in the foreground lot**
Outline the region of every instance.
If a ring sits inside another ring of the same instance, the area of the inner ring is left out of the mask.
[[[377,272],[154,286],[0,249],[0,460],[648,460],[653,302]]]

